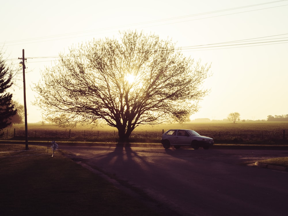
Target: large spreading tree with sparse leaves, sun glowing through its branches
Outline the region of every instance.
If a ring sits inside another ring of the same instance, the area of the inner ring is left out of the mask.
[[[206,94],[203,82],[210,65],[183,56],[171,40],[124,31],[120,39],[94,39],[42,72],[35,85],[35,104],[44,116],[62,116],[67,123],[103,123],[118,129],[128,142],[141,124],[183,122],[198,111]]]

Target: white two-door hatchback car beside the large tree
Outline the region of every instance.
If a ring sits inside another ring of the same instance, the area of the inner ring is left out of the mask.
[[[194,130],[174,129],[167,130],[162,135],[161,143],[165,149],[168,149],[171,145],[175,149],[179,149],[181,146],[191,146],[194,149],[199,147],[209,149],[209,147],[213,146],[214,140],[210,137],[200,136]]]

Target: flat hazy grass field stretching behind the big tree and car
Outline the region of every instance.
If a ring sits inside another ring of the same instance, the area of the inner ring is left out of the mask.
[[[159,143],[162,132],[171,128],[192,129],[200,135],[212,137],[215,143],[243,144],[288,144],[288,122],[211,122],[160,124],[155,126],[139,126],[130,136],[130,142]],[[3,139],[23,140],[24,125],[13,125],[3,130]],[[285,133],[286,132],[286,133]],[[109,126],[90,128],[59,128],[54,125],[28,124],[30,140],[58,141],[104,141],[115,142],[118,130]]]

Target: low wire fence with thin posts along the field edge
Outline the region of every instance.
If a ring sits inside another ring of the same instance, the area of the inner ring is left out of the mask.
[[[197,131],[199,134],[206,137],[211,137],[215,142],[255,142],[255,141],[287,141],[287,135],[285,130],[278,131]],[[133,131],[130,140],[141,141],[141,139],[150,139],[154,141],[161,140],[162,131]],[[4,130],[4,134],[1,139],[22,139],[25,137],[25,129],[9,128]],[[30,140],[73,140],[73,141],[115,141],[118,138],[117,130],[28,130],[28,138]]]

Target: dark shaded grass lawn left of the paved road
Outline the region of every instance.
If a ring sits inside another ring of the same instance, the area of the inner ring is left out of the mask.
[[[0,144],[0,215],[166,215],[57,151]]]

